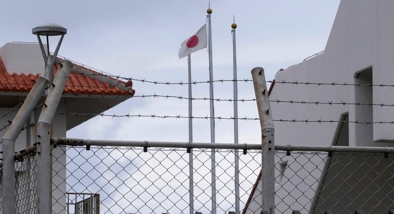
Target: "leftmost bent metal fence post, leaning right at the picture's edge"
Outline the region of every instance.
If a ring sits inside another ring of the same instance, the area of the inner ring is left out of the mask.
[[[3,213],[15,213],[15,141],[24,124],[30,116],[31,111],[40,100],[49,80],[39,76],[33,88],[27,95],[11,125],[8,127],[2,138],[3,162],[2,162],[2,188],[3,188]]]

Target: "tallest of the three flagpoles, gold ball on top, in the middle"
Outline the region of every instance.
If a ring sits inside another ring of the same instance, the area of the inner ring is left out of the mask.
[[[212,32],[210,24],[210,14],[212,9],[206,10],[208,13],[208,55],[209,55],[209,100],[210,100],[210,142],[215,143],[215,113],[213,108],[213,72],[212,72]],[[211,150],[211,202],[212,213],[216,214],[216,173],[215,173],[215,150]]]

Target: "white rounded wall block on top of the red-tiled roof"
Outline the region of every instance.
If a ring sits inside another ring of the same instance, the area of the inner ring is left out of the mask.
[[[0,48],[0,57],[9,74],[35,75],[45,71],[45,62],[38,43],[8,42]]]

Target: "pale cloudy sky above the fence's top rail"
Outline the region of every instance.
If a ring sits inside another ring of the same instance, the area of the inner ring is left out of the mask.
[[[260,66],[267,80],[281,68],[324,50],[339,0],[211,0],[213,79],[231,80],[233,15],[238,79],[251,79]],[[36,42],[31,29],[53,22],[67,28],[59,55],[100,71],[158,82],[188,82],[187,59],[178,58],[181,42],[205,22],[208,1],[67,0],[7,1],[1,4],[0,46]],[[54,47],[53,47],[54,48]],[[54,51],[53,49],[51,50]],[[206,49],[192,54],[192,80],[207,81]],[[188,96],[187,85],[133,81],[136,96]],[[193,86],[194,98],[209,98],[209,85]],[[232,99],[232,82],[215,83],[214,98]],[[238,98],[253,99],[251,82],[238,83]],[[233,103],[215,102],[215,116],[231,117]],[[209,101],[194,101],[195,116],[209,116]],[[274,110],[274,109],[273,109]],[[107,114],[188,116],[188,101],[132,98]],[[258,117],[255,102],[238,104],[239,117]],[[277,118],[279,119],[279,118]],[[209,142],[209,120],[194,120],[194,142]],[[216,119],[216,142],[233,142],[233,121]],[[260,143],[258,121],[239,121],[239,142]],[[188,141],[188,119],[93,118],[67,133],[88,139]]]

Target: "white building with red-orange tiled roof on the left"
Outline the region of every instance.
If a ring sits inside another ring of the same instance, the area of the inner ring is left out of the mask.
[[[58,67],[59,64],[54,65],[55,73]],[[58,114],[54,115],[52,121],[52,137],[66,137],[67,130],[93,117],[93,115],[67,113],[102,113],[129,99],[135,93],[131,81],[122,82],[105,77],[99,72],[77,64],[74,64],[71,73],[74,74],[69,76],[56,110]],[[44,74],[44,61],[38,44],[7,43],[0,47],[0,115],[2,115],[0,128],[5,127],[8,121],[12,121],[19,108],[11,109],[24,101],[34,84],[33,81],[40,74]],[[45,99],[46,97],[42,95],[39,104],[44,103]],[[37,120],[41,109],[41,107],[35,109],[26,124]],[[6,128],[0,131],[1,138],[5,131]],[[20,151],[37,142],[36,135],[34,126],[24,129],[15,142],[15,151]],[[0,150],[2,150],[1,146]],[[66,206],[66,155],[62,149],[54,149],[52,157],[52,169],[55,172],[52,176],[52,212],[60,214],[66,212],[64,210]],[[28,204],[26,201],[23,203]]]

